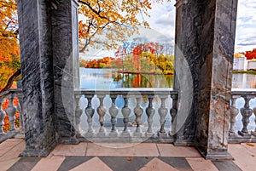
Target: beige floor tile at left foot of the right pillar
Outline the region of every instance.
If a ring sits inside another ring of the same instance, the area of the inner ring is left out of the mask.
[[[194,147],[157,144],[161,157],[201,157]]]

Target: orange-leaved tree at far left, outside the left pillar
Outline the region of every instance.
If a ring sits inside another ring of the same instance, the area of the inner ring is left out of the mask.
[[[16,0],[0,0],[0,92],[20,75]]]

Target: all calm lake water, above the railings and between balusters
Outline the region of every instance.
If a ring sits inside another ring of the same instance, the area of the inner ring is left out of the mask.
[[[172,88],[173,83],[173,76],[164,76],[164,75],[137,75],[137,74],[119,74],[113,69],[88,69],[88,68],[80,68],[80,79],[81,79],[81,88],[87,89],[118,89],[118,88]],[[232,78],[232,88],[256,88],[256,76],[250,74],[233,74]],[[253,90],[253,89],[252,89]],[[256,90],[256,89],[254,89]],[[129,106],[133,109],[133,106],[136,105],[136,99],[130,98],[129,99]],[[97,98],[93,98],[92,105],[96,109],[99,105],[99,100]],[[111,105],[111,100],[107,96],[104,100],[104,105],[107,109]],[[122,125],[122,114],[121,108],[124,105],[124,100],[121,96],[116,99],[116,105],[119,108],[119,115],[118,115],[118,125]],[[166,100],[166,107],[170,110],[172,105],[172,100]],[[237,108],[241,108],[244,105],[243,99],[236,100]],[[250,101],[251,106],[256,106],[256,100]],[[85,108],[87,106],[87,100],[83,98],[81,101],[81,107]],[[142,102],[143,106],[143,124],[147,125],[146,122],[146,113],[145,109],[148,106],[147,98],[143,98]],[[154,108],[158,109],[160,106],[160,99],[156,96],[154,99]],[[250,118],[251,122],[249,123],[249,130],[255,128],[255,123],[253,122],[254,116]],[[82,128],[86,130],[87,123],[85,114],[81,117],[83,122]],[[94,125],[99,126],[98,124],[98,115],[96,113],[94,117]],[[110,115],[107,112],[105,116],[105,126],[110,126]],[[131,121],[134,120],[134,117],[131,117]],[[236,129],[241,129],[241,114],[236,117]],[[132,123],[132,122],[131,122]],[[158,115],[154,115],[154,127],[158,128],[159,126],[159,117]],[[171,126],[171,118],[168,115],[166,118],[166,128],[170,128]]]

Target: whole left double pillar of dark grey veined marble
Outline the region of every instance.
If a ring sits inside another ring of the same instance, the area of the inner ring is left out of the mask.
[[[26,136],[20,156],[44,157],[58,141],[78,142],[73,128],[73,88],[79,86],[73,67],[79,60],[77,3],[18,0],[18,15]]]

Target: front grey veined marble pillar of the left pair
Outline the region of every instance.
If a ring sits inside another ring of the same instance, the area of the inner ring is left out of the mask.
[[[47,156],[56,144],[49,12],[44,0],[18,0],[26,138],[21,156]]]

